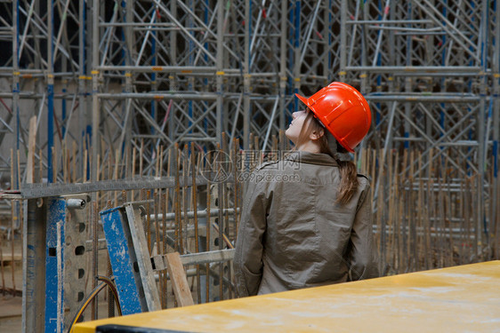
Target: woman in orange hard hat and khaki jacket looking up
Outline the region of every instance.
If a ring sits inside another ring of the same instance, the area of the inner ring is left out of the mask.
[[[349,152],[371,123],[366,99],[330,83],[293,114],[294,152],[250,178],[234,258],[239,297],[378,276],[369,180]]]

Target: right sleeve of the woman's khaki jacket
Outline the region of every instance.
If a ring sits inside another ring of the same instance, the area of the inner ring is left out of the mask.
[[[374,241],[370,197],[370,185],[367,180],[367,185],[359,197],[358,211],[351,230],[348,260],[352,281],[371,279],[380,275]]]

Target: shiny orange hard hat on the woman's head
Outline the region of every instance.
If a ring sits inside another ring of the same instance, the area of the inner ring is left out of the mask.
[[[349,152],[367,135],[372,114],[367,99],[351,85],[334,82],[310,96],[295,94]]]

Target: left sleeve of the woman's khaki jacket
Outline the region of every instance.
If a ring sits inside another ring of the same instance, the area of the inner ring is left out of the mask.
[[[265,188],[248,183],[233,260],[239,297],[257,295],[262,280],[262,237],[266,229]]]

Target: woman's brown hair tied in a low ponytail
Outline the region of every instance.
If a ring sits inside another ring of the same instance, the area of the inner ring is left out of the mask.
[[[313,116],[311,111],[308,112],[308,115],[304,120],[296,147],[299,147],[303,142],[308,140],[310,138],[310,134],[315,131],[317,133],[321,131],[325,133],[319,138],[319,152],[335,158],[334,152],[332,152],[330,147],[328,147],[327,129],[319,123],[319,120]],[[337,142],[337,152],[344,154],[347,153],[347,150]],[[358,172],[356,171],[356,165],[354,165],[351,161],[338,161],[336,159],[335,161],[339,164],[341,179],[336,202],[345,204],[351,201],[352,195],[354,195],[358,189]]]

